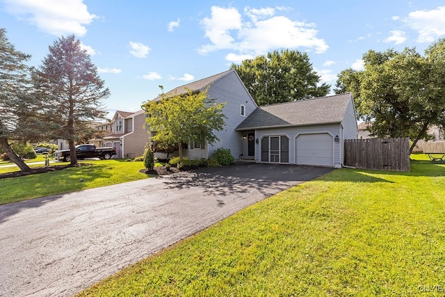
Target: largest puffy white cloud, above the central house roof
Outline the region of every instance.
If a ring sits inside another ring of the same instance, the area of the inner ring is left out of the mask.
[[[211,43],[202,46],[200,54],[232,49],[238,55],[257,56],[273,49],[297,47],[323,53],[329,48],[325,40],[317,38],[315,24],[275,15],[276,11],[247,7],[244,14],[248,21],[245,21],[236,8],[212,6],[211,17],[204,17],[201,22]]]

